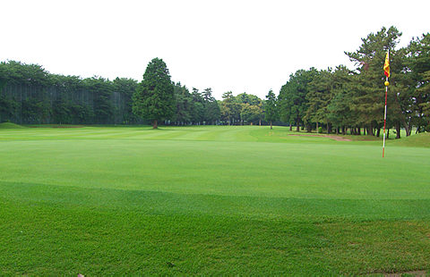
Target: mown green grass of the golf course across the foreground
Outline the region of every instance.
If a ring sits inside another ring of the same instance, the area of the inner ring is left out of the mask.
[[[0,275],[430,269],[428,134],[384,159],[380,140],[291,134],[1,130]]]

